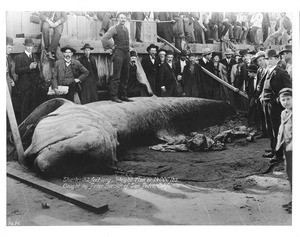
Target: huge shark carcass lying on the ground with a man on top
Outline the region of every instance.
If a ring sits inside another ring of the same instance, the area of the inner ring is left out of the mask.
[[[226,102],[199,98],[134,98],[77,105],[52,99],[20,124],[30,145],[25,161],[45,176],[101,173],[118,161],[120,147],[155,138],[164,130],[189,133],[221,123],[235,110]]]

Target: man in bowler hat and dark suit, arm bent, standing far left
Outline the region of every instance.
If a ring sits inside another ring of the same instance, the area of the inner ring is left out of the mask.
[[[40,79],[40,71],[32,53],[33,40],[26,38],[25,52],[19,54],[16,59],[16,74],[18,75],[18,88],[21,92],[21,121],[38,106],[37,90]]]

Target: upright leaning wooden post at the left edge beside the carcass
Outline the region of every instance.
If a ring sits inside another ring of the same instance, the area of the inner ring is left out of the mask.
[[[8,116],[8,120],[9,120],[9,124],[10,124],[10,128],[11,128],[11,132],[13,135],[15,147],[17,150],[19,163],[21,165],[25,165],[23,144],[22,144],[22,140],[20,137],[19,128],[18,128],[16,117],[15,117],[15,112],[13,109],[13,105],[11,102],[11,97],[10,97],[10,93],[9,93],[7,84],[6,84],[6,111],[7,111],[7,116]]]

